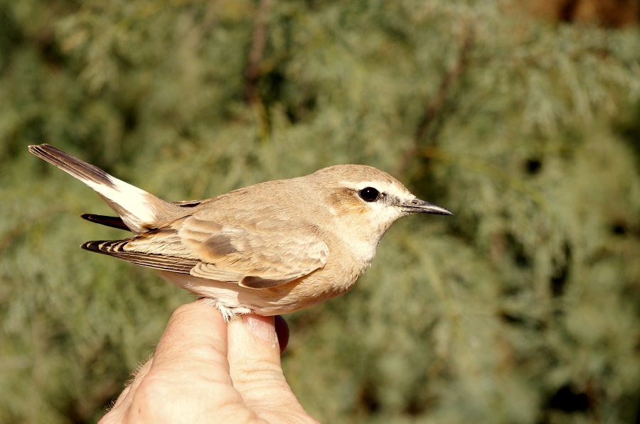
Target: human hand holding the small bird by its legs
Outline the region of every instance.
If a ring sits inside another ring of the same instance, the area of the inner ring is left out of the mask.
[[[316,423],[282,374],[273,317],[228,324],[202,300],[171,316],[146,362],[99,424]]]

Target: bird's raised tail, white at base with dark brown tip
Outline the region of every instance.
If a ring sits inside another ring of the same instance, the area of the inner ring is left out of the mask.
[[[149,192],[118,180],[97,166],[80,161],[48,144],[29,146],[29,151],[95,190],[107,205],[117,212],[122,222],[136,234],[156,227],[157,214],[163,208],[171,210],[175,207]]]

